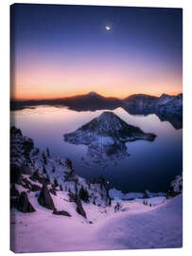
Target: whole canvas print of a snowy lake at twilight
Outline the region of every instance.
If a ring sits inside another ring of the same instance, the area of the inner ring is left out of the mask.
[[[183,10],[10,6],[10,249],[183,246]]]

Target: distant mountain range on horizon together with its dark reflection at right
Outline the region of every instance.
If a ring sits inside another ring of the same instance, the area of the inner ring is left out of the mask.
[[[76,111],[113,110],[124,108],[131,115],[155,114],[159,119],[169,121],[175,129],[183,127],[183,94],[171,96],[163,94],[155,97],[145,94],[134,94],[123,100],[103,97],[96,92],[51,100],[10,100],[10,110],[34,108],[38,105],[66,106]]]

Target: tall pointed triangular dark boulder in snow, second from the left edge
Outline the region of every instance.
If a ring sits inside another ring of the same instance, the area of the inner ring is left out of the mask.
[[[38,196],[38,202],[41,206],[49,209],[54,210],[55,206],[53,203],[53,199],[48,191],[47,184],[44,182],[43,188]]]

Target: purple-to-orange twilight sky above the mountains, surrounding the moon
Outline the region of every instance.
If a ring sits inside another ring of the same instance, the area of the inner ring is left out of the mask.
[[[10,18],[11,98],[182,92],[182,9],[14,4]]]

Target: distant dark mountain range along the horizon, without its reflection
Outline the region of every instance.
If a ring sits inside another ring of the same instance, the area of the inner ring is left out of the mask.
[[[10,109],[19,110],[27,107],[35,107],[37,105],[57,105],[57,106],[68,106],[71,109],[78,111],[81,110],[98,110],[98,109],[114,109],[116,107],[123,106],[126,109],[152,109],[155,105],[162,106],[167,102],[170,102],[176,98],[181,98],[183,95],[169,96],[163,94],[161,97],[154,97],[145,94],[134,94],[130,97],[120,100],[113,97],[103,97],[96,92],[90,92],[85,95],[77,95],[73,97],[66,97],[60,99],[49,99],[49,100],[23,100],[15,101],[10,100]]]

